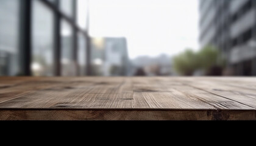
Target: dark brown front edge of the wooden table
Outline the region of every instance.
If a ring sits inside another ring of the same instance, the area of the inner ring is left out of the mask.
[[[256,120],[252,110],[1,109],[0,120]]]

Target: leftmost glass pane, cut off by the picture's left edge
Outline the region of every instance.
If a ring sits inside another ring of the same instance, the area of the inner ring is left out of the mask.
[[[0,0],[0,75],[18,75],[20,0]]]

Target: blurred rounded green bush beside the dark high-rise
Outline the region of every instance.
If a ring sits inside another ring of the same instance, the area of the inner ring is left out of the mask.
[[[199,52],[187,49],[174,57],[174,69],[181,75],[193,75],[199,69],[206,75],[221,75],[224,64],[221,52],[213,46],[205,46]]]

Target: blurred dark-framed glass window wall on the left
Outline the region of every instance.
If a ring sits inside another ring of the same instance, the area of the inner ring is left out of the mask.
[[[0,75],[86,75],[82,1],[0,0]]]

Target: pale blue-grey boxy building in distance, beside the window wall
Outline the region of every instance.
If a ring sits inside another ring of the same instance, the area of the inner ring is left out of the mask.
[[[126,38],[91,38],[92,75],[130,75]]]

